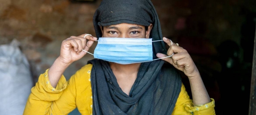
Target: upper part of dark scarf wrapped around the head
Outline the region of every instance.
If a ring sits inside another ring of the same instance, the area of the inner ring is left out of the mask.
[[[93,25],[97,38],[102,37],[100,26],[131,23],[149,26],[153,24],[150,38],[162,40],[162,31],[157,11],[150,0],[102,0],[93,16]],[[164,42],[153,42],[153,52],[166,54]],[[153,59],[156,59],[153,55]]]

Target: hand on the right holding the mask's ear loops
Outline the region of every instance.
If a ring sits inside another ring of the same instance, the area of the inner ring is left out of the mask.
[[[199,75],[199,71],[187,50],[177,46],[177,44],[172,42],[170,39],[167,39],[166,37],[163,37],[163,41],[166,42],[170,48],[167,51],[167,55],[163,53],[157,53],[158,58],[171,56],[174,53],[172,57],[163,58],[162,60],[169,62],[178,70],[183,71],[189,78]]]

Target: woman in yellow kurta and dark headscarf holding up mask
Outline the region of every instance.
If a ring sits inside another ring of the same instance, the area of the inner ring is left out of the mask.
[[[60,56],[32,88],[24,115],[67,115],[76,107],[82,115],[215,115],[197,67],[185,49],[162,37],[150,0],[102,0],[93,24],[97,37],[82,34],[62,42]],[[98,38],[98,59],[66,82],[64,71],[88,55]],[[142,46],[141,39],[152,43]],[[146,48],[149,55],[140,53]],[[193,100],[177,70],[188,76]]]

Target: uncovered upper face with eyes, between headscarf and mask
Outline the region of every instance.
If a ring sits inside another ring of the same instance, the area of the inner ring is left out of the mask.
[[[104,26],[102,37],[118,38],[149,38],[152,24],[145,30],[145,26],[137,24],[121,23],[117,25]]]

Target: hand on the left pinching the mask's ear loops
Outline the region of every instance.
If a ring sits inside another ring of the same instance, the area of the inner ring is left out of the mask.
[[[85,35],[86,34],[82,34],[80,36],[70,36],[62,41],[61,53],[58,57],[61,62],[70,65],[71,63],[81,59],[86,54],[86,52],[82,50],[88,51],[97,38],[91,35]]]

